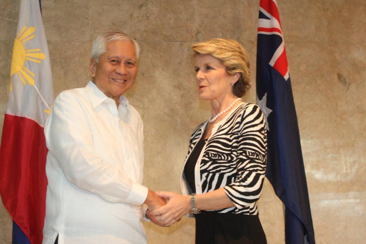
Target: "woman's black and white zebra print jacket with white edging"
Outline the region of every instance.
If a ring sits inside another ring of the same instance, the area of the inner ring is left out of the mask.
[[[198,125],[190,138],[181,179],[183,195],[192,193],[184,175],[184,166],[206,125],[207,121]],[[257,215],[257,201],[266,170],[266,152],[267,130],[261,110],[255,104],[238,105],[214,125],[199,155],[195,166],[196,193],[224,187],[235,207],[215,212]]]

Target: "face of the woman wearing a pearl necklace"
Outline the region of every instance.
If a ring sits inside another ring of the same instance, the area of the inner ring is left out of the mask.
[[[223,101],[226,95],[232,95],[231,84],[239,76],[229,74],[219,59],[210,54],[198,54],[194,69],[200,99]]]

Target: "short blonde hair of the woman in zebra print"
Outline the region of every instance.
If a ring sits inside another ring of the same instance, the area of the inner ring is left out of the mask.
[[[250,88],[249,61],[246,50],[239,42],[231,39],[214,38],[192,45],[194,55],[210,54],[226,67],[229,74],[240,73],[240,78],[235,82],[233,93],[242,97]]]

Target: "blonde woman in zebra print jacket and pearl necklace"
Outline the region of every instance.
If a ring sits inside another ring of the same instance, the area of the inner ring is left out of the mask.
[[[184,162],[182,194],[157,192],[168,203],[151,213],[169,226],[187,214],[196,219],[196,243],[266,243],[257,201],[265,176],[267,131],[249,89],[242,45],[212,39],[193,45],[199,98],[212,115],[198,125]]]

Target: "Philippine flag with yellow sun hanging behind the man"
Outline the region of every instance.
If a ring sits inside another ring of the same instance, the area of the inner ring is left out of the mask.
[[[47,187],[43,127],[52,102],[40,3],[22,0],[0,147],[0,194],[14,220],[13,243],[42,243]]]

